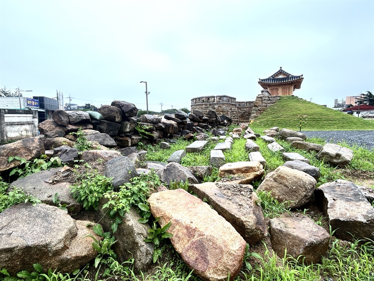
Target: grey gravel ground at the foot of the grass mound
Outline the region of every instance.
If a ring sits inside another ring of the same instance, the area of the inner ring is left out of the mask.
[[[350,145],[357,144],[359,146],[374,149],[374,130],[369,131],[301,131],[308,138],[322,138],[327,142],[337,143],[345,140]]]

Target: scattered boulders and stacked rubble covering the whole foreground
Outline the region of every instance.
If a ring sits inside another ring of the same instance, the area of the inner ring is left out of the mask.
[[[263,98],[262,102],[266,99],[270,97]],[[278,151],[285,149],[276,139],[283,139],[297,149],[317,151],[316,157],[340,167],[352,160],[350,149],[329,143],[319,146],[304,142],[305,135],[302,133],[279,130],[278,127],[270,128],[260,136],[248,126],[242,126],[235,129],[231,136],[226,136],[221,126],[230,124],[231,120],[226,116],[218,117],[214,111],[204,115],[195,109],[190,115],[177,111],[164,118],[153,115],[136,118],[135,105],[114,101],[111,105],[102,106],[99,113],[104,119],[93,120],[85,112],[55,111],[53,120],[39,124],[40,132],[44,134],[42,138],[29,138],[1,147],[0,172],[18,164],[16,161],[9,163],[9,155],[16,154],[31,160],[46,151],[50,156],[58,155],[70,165],[76,160],[104,160],[103,174],[114,178],[115,189],[138,174],[149,173],[150,169],[157,172],[166,186],[188,180],[189,191],[200,199],[183,189],[168,190],[162,186],[158,188],[159,192],[151,194],[148,202],[153,216],[160,217],[161,227],[171,221],[168,232],[173,234],[171,242],[175,250],[194,269],[194,274],[203,280],[227,280],[227,272],[233,280],[242,266],[246,243],[253,245],[264,239],[268,223],[272,248],[278,256],[283,257],[287,249],[287,254],[292,257],[301,255],[305,263],[316,263],[326,253],[329,234],[309,217],[283,214],[270,222],[266,220],[257,196],[261,191],[270,192],[279,202],[287,202],[290,208],[302,208],[310,200],[315,200],[322,206],[332,229],[336,229],[338,238],[350,241],[353,236],[354,239],[374,239],[374,209],[368,202],[373,200],[373,193],[347,181],[330,182],[316,188],[319,169],[310,165],[310,159],[298,153],[283,152],[284,165],[267,173],[257,190],[251,185],[254,181],[261,181],[266,169],[266,160],[261,155],[258,142],[267,143],[272,153],[281,153]],[[77,149],[71,148],[74,138],[68,134],[77,132],[80,127],[100,150],[78,153]],[[136,127],[142,129],[138,131]],[[146,134],[147,139],[142,138],[142,130],[150,134]],[[208,138],[206,130],[217,137]],[[191,133],[196,133],[197,141],[174,152],[168,163],[145,161],[147,152],[134,147],[139,141],[159,143],[166,140],[160,147],[169,149],[171,140],[168,138],[185,136],[187,139]],[[248,160],[226,163],[223,152],[231,149],[237,138],[246,139]],[[201,153],[208,142],[217,142],[210,152],[210,166],[184,167],[180,164],[188,153]],[[220,181],[201,183],[205,176],[211,175],[212,167],[219,169]],[[73,220],[69,216],[83,209],[69,193],[70,182],[54,180],[56,176],[64,179],[69,173],[71,168],[55,168],[20,178],[10,185],[9,188],[21,188],[47,205],[33,207],[24,203],[0,214],[0,256],[4,257],[0,268],[16,274],[21,269],[31,270],[32,263],[40,262],[46,267],[71,272],[76,269],[74,266],[83,266],[95,257],[92,239],[80,239],[85,234],[99,237],[86,227],[89,222]],[[61,203],[67,204],[68,214],[53,206],[52,198],[56,192]],[[95,220],[100,221],[104,231],[110,231],[111,219],[107,210],[102,209],[105,200],[103,198],[99,202]],[[117,230],[118,242],[114,246],[120,262],[130,257],[135,259],[135,272],[149,269],[153,254],[153,244],[143,241],[150,227],[138,223],[139,218],[132,207],[122,218],[123,223]],[[40,235],[31,235],[33,227],[45,232],[44,244],[40,244]],[[302,262],[301,259],[299,261]]]

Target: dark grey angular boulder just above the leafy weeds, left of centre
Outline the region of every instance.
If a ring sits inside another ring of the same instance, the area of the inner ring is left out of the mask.
[[[104,175],[113,178],[112,185],[118,188],[138,176],[134,163],[126,156],[115,157],[104,164]]]

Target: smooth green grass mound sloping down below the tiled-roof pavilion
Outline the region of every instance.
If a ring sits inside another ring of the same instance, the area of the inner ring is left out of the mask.
[[[281,96],[273,106],[256,118],[252,126],[258,129],[277,126],[298,131],[300,115],[301,131],[374,130],[374,120],[354,117],[295,96]]]

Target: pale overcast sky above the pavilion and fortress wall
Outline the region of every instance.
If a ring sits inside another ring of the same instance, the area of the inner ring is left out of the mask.
[[[0,87],[153,111],[255,100],[259,78],[332,107],[374,91],[374,1],[0,1]]]

